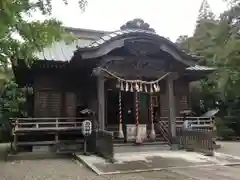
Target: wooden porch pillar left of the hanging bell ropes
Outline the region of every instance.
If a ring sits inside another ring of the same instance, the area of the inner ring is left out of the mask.
[[[105,92],[104,77],[99,74],[97,76],[97,94],[98,94],[98,122],[101,130],[105,129]]]

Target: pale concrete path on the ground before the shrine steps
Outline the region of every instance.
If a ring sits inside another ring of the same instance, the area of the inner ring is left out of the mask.
[[[86,164],[99,175],[121,174],[133,172],[184,169],[189,167],[209,167],[240,165],[240,157],[216,153],[214,157],[206,157],[195,152],[186,151],[152,151],[139,153],[116,153],[115,163],[106,162],[94,155],[76,155],[76,158]]]

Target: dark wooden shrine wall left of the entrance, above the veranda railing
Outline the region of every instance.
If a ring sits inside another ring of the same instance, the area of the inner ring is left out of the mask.
[[[96,111],[96,80],[77,74],[45,73],[34,78],[35,117],[76,117],[77,105]]]

